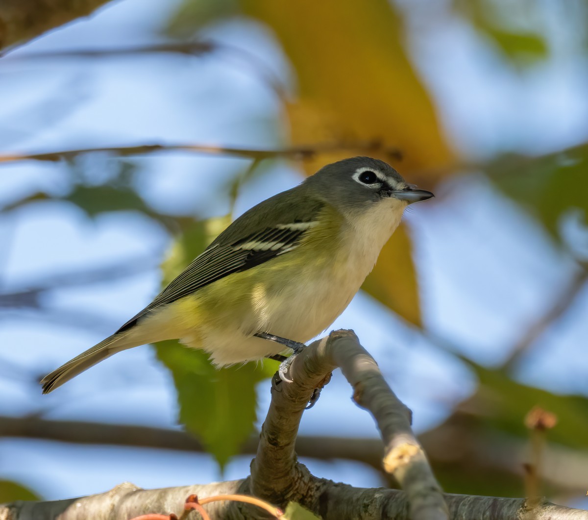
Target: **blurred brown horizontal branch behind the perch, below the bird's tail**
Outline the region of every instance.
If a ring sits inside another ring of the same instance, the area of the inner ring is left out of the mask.
[[[34,368],[25,371],[24,368],[18,367],[17,370],[17,367],[9,365],[6,359],[0,359],[0,376],[6,378],[8,375],[21,382],[32,382],[36,381],[36,376],[40,374],[36,374]],[[44,439],[74,444],[131,446],[189,453],[205,452],[205,448],[193,436],[177,429],[131,424],[59,421],[43,418],[41,412],[22,417],[0,415],[0,438],[5,437]],[[450,445],[447,445],[447,438],[451,440]],[[475,468],[483,466],[492,468],[496,475],[503,475],[502,478],[519,478],[520,465],[517,463],[517,454],[527,447],[520,438],[488,439],[477,435],[472,436],[469,416],[463,416],[459,412],[442,425],[420,435],[419,440],[433,464],[446,466],[449,451],[453,452],[451,464],[454,471],[476,471]],[[241,446],[240,454],[255,454],[258,444],[259,435],[252,435]],[[301,457],[323,461],[334,459],[357,461],[383,473],[382,449],[382,440],[376,437],[346,438],[299,434],[295,445],[296,454]],[[582,492],[582,478],[586,467],[588,467],[588,452],[549,444],[545,450],[542,478],[559,494],[577,494]]]

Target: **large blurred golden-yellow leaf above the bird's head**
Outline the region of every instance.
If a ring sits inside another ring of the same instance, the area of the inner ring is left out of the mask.
[[[286,107],[293,144],[377,140],[400,149],[404,172],[449,164],[451,153],[406,57],[402,20],[391,2],[241,4],[273,29],[296,70],[298,97]],[[306,163],[307,172],[352,154],[320,154]],[[363,155],[391,159],[382,152]]]

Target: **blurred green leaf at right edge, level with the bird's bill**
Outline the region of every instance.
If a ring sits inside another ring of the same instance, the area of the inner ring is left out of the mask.
[[[588,145],[537,158],[507,156],[487,169],[509,197],[560,240],[562,218],[573,209],[588,218]]]

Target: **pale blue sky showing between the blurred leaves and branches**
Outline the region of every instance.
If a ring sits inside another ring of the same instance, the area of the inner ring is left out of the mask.
[[[586,140],[588,68],[579,54],[566,52],[573,42],[561,28],[549,32],[557,52],[545,63],[517,72],[455,16],[421,37],[416,15],[406,2],[402,5],[409,26],[416,27],[407,37],[410,54],[462,153],[474,159],[509,149],[541,153]],[[278,128],[280,108],[272,92],[250,71],[213,55],[25,59],[32,52],[161,40],[162,21],[172,9],[173,2],[156,0],[109,4],[95,16],[3,58],[0,97],[8,102],[0,106],[0,152],[151,142],[252,148],[283,144],[286,136]],[[284,81],[292,81],[285,56],[258,25],[227,22],[206,34],[245,46]],[[94,178],[108,175],[108,159],[92,160]],[[246,164],[186,153],[159,154],[141,162],[145,168],[138,188],[149,204],[199,217],[228,210],[228,201],[215,199],[212,204],[210,194]],[[39,189],[52,194],[68,190],[60,165],[26,162],[1,169],[2,205]],[[279,163],[271,175],[243,187],[236,214],[300,179],[290,165]],[[572,262],[529,216],[475,172],[446,182],[429,202],[406,215],[415,239],[426,324],[457,350],[496,364],[518,338],[520,324],[532,322],[565,285]],[[48,418],[173,427],[171,377],[147,346],[113,356],[48,396],[23,382],[111,334],[151,300],[160,282],[157,265],[171,244],[165,229],[131,213],[90,220],[74,206],[42,202],[0,217],[0,239],[6,245],[0,252],[1,282],[8,288],[128,259],[152,262],[151,268],[129,278],[52,292],[48,298],[63,312],[45,321],[21,312],[3,314],[0,414],[43,411]],[[587,306],[588,294],[583,294],[540,340],[520,374],[523,381],[558,392],[588,392],[588,360],[582,355],[588,335],[582,312]],[[68,326],[62,316],[85,320],[87,326]],[[358,332],[415,412],[417,430],[442,421],[452,404],[475,388],[472,375],[452,355],[399,324],[368,296],[358,295],[337,327]],[[268,405],[266,386],[259,391],[261,415]],[[300,431],[329,434],[334,428],[339,435],[376,436],[372,419],[350,395],[348,384],[336,374],[319,404],[305,414]],[[206,455],[0,439],[0,478],[14,478],[49,499],[105,491],[122,481],[162,487],[239,478],[248,474],[249,461],[249,456],[238,457],[220,475]],[[327,478],[360,486],[382,484],[376,472],[350,462],[304,462]]]

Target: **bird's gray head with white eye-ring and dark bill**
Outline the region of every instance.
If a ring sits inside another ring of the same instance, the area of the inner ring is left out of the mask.
[[[433,196],[407,184],[400,174],[379,159],[352,157],[333,162],[305,180],[326,202],[344,212],[366,209],[386,201],[395,209]]]

